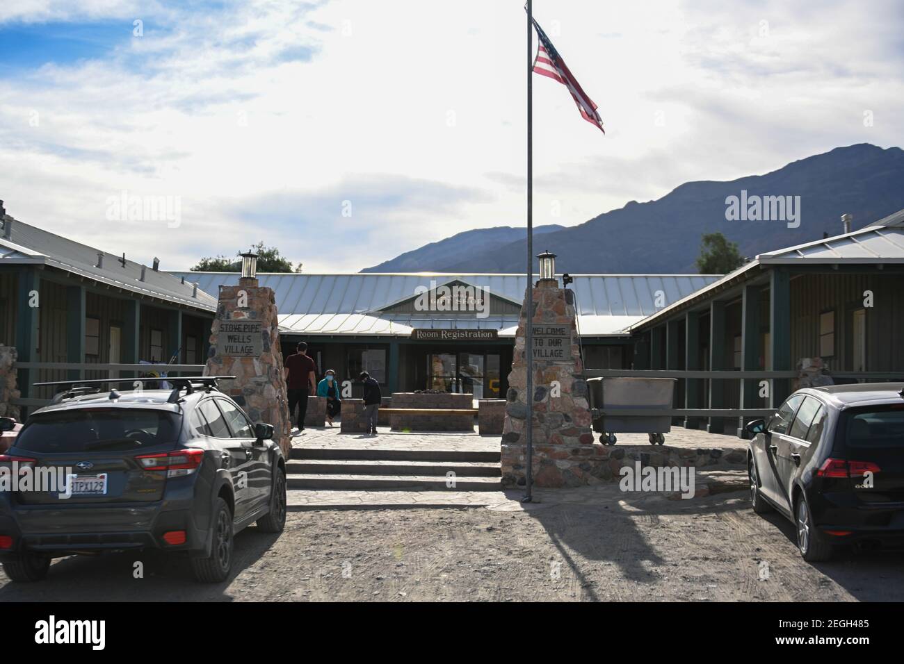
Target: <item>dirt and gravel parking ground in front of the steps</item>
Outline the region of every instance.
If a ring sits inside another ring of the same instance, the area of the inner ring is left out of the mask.
[[[76,556],[38,584],[0,572],[0,602],[904,599],[899,554],[813,566],[793,537],[737,491],[530,511],[296,511],[278,537],[240,533],[222,585],[195,584],[184,560],[159,554]]]

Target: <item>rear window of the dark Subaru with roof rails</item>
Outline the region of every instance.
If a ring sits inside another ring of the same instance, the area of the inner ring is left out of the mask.
[[[163,410],[78,408],[33,416],[15,447],[39,454],[136,450],[175,444],[180,423]]]

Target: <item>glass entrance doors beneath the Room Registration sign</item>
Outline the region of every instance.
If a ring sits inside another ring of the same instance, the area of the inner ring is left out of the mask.
[[[427,354],[427,388],[474,398],[499,398],[500,357],[495,352],[431,352]]]

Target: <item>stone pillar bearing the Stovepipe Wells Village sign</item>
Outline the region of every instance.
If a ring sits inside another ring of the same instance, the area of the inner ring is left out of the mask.
[[[235,376],[221,381],[220,389],[244,408],[252,422],[273,425],[274,440],[288,459],[292,436],[283,374],[273,290],[251,278],[220,286],[204,375]]]

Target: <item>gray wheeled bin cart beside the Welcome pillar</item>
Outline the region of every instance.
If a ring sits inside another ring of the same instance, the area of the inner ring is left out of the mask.
[[[616,433],[647,434],[650,444],[664,444],[665,434],[672,431],[672,417],[648,416],[645,410],[670,409],[677,379],[601,378],[588,379],[587,387],[593,430],[599,442],[614,445]],[[602,416],[599,411],[636,409],[637,415]]]

